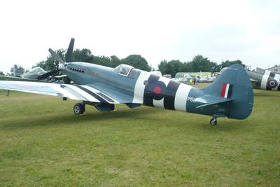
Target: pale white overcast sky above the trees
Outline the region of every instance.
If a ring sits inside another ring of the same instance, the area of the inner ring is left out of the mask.
[[[280,1],[0,1],[0,71],[25,69],[48,48],[76,48],[120,58],[241,60],[280,64]]]

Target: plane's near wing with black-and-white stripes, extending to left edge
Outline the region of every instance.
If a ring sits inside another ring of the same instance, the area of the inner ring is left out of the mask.
[[[69,99],[85,102],[117,104],[115,99],[109,97],[89,85],[70,85],[58,83],[39,83],[26,81],[0,81],[0,90],[15,90],[31,92],[42,95],[67,97]]]

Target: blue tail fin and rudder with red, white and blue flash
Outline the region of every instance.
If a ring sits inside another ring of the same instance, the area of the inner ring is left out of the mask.
[[[244,67],[234,64],[211,85],[202,89],[204,94],[229,99],[228,118],[245,119],[253,109],[253,88]]]

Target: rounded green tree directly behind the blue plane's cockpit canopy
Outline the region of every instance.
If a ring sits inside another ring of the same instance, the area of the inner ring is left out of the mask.
[[[128,57],[121,60],[122,64],[128,64],[134,68],[141,69],[144,71],[151,71],[151,67],[148,62],[141,55],[129,55]]]

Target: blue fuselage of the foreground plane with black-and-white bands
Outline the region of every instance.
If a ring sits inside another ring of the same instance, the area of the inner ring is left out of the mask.
[[[122,67],[113,69],[97,64],[72,62],[67,64],[64,73],[78,85],[92,85],[97,90],[114,95],[116,101],[120,103],[126,101],[126,103],[144,104],[162,109],[231,117],[227,105],[199,108],[204,104],[230,98],[231,93],[221,98],[222,88],[216,90],[214,94],[218,97],[215,97],[206,95],[202,89],[139,69],[132,68],[128,74],[123,75],[120,74],[120,68]],[[240,113],[239,117],[232,116],[232,118],[246,118],[249,115],[249,113]]]

